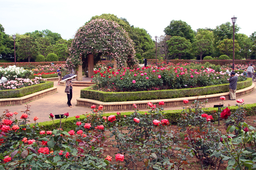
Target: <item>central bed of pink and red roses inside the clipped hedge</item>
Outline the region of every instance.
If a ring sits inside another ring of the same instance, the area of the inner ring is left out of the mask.
[[[246,79],[237,76],[238,81]],[[170,63],[161,67],[148,66],[133,70],[96,70],[92,82],[97,84],[94,90],[126,92],[204,87],[228,83],[229,78],[225,72],[207,70],[202,65],[192,63],[175,66]]]

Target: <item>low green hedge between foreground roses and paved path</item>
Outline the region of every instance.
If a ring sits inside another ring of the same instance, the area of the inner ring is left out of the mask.
[[[231,112],[235,112],[236,109],[238,108],[238,106],[230,106]],[[254,104],[245,104],[244,105],[244,109],[246,111],[246,116],[254,116],[256,115],[256,103]],[[165,111],[165,119],[168,119],[169,122],[171,124],[177,124],[178,123],[178,119],[181,118],[181,111],[182,110],[166,110]],[[208,115],[212,115],[212,117],[214,118],[212,121],[216,122],[218,121],[218,108],[207,108],[206,110],[204,110],[206,114]],[[141,114],[144,114],[145,112],[143,111],[139,111]],[[121,112],[121,116],[128,116],[130,114],[132,114],[133,112]],[[107,114],[103,114],[102,116],[110,116],[110,115],[116,115],[116,113],[107,113]],[[83,120],[85,118],[84,115],[80,115],[80,121]],[[76,122],[78,122],[78,119],[74,117],[69,117],[67,120],[62,119],[61,122],[61,126],[62,129],[67,129],[67,128],[71,128],[71,129],[76,129]],[[41,130],[52,130],[54,128],[59,128],[60,127],[60,120],[54,120],[54,124],[52,121],[48,121],[48,122],[40,122],[38,123],[39,127],[41,127]],[[33,126],[33,124],[31,124],[31,126]]]

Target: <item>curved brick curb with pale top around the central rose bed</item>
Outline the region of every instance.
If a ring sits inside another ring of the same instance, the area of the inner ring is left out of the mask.
[[[246,94],[250,94],[255,90],[255,84],[252,84],[250,87],[246,87],[241,90],[236,91],[236,96],[243,96]],[[159,99],[159,100],[140,100],[140,101],[128,101],[128,102],[101,102],[98,100],[93,99],[84,99],[84,98],[77,98],[76,99],[76,106],[83,106],[83,107],[91,107],[91,105],[95,105],[98,107],[102,105],[105,111],[124,111],[124,110],[132,110],[132,104],[136,104],[139,109],[147,109],[148,102],[156,103],[158,107],[158,103],[163,101],[165,102],[164,106],[161,107],[178,107],[178,106],[185,106],[183,100],[188,100],[191,104],[194,100],[199,100],[203,102],[204,100],[208,99],[208,103],[222,101],[219,99],[220,96],[225,96],[226,99],[229,98],[229,92],[219,93],[219,94],[212,94],[212,95],[203,95],[203,96],[193,96],[193,97],[185,97],[185,98],[173,98],[173,99]]]

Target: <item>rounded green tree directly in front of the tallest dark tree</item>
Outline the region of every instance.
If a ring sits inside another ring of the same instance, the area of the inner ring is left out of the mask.
[[[167,41],[171,56],[178,56],[181,60],[182,55],[186,55],[190,52],[191,43],[189,40],[180,36],[173,36]]]

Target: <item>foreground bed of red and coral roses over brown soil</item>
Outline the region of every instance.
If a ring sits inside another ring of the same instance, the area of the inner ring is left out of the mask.
[[[245,123],[244,101],[237,102],[235,110],[221,108],[224,131],[211,122],[216,113],[205,112],[206,103],[196,100],[181,111],[177,127],[169,126],[163,108],[154,103],[148,103],[143,114],[133,104],[131,114],[108,117],[102,106],[93,105],[92,114],[73,118],[72,129],[65,128],[68,112],[60,129],[54,123],[41,129],[37,116],[27,124],[29,106],[21,115],[5,110],[0,119],[0,169],[253,169],[255,128]]]

